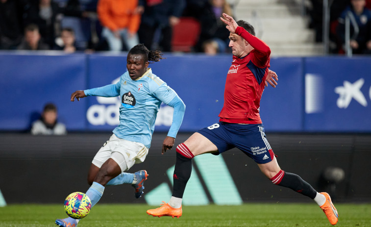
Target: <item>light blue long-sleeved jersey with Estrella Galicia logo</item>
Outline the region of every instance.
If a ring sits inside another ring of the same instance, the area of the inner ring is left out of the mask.
[[[174,107],[173,124],[168,136],[175,138],[182,123],[185,105],[175,91],[163,80],[148,71],[137,80],[128,72],[116,84],[84,91],[86,96],[121,97],[120,124],[113,133],[122,139],[150,147],[154,123],[161,102]]]

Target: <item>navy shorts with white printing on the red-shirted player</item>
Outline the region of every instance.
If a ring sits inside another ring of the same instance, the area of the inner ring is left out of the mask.
[[[268,163],[274,157],[262,124],[240,125],[219,122],[197,132],[217,146],[219,152],[213,153],[216,155],[238,148],[259,164]]]

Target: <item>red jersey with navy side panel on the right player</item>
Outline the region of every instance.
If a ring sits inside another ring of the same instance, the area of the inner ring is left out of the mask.
[[[270,67],[271,49],[243,27],[237,27],[236,34],[242,36],[254,50],[242,58],[233,56],[225,81],[224,105],[219,114],[220,121],[261,124],[260,99]]]

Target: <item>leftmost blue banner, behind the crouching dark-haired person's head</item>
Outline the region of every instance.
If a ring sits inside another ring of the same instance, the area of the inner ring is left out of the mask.
[[[84,54],[1,54],[0,69],[1,130],[29,129],[47,102],[69,130],[85,127],[85,101],[70,101],[76,88],[85,88]]]

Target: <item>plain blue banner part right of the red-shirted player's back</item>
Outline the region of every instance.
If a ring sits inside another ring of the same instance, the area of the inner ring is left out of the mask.
[[[260,118],[267,131],[301,131],[303,111],[302,58],[271,59],[278,85],[264,89],[260,101]]]

